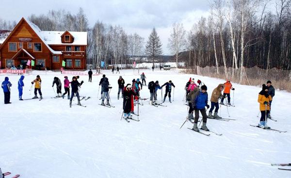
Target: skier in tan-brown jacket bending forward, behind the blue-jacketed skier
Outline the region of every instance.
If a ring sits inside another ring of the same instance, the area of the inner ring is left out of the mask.
[[[219,109],[219,104],[218,104],[218,99],[221,99],[223,97],[223,95],[221,94],[221,91],[224,89],[224,85],[223,84],[219,84],[215,89],[213,89],[212,94],[211,94],[211,108],[209,110],[208,113],[208,118],[210,119],[221,119],[221,117],[218,116],[218,109]],[[214,115],[212,116],[212,111],[214,109],[215,106],[215,110],[214,110]]]

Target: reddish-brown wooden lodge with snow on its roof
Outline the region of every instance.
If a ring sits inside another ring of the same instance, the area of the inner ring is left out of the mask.
[[[42,31],[35,24],[21,18],[13,30],[0,30],[0,66],[32,69],[86,69],[87,32]]]

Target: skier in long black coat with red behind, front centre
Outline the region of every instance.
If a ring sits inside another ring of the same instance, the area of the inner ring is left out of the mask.
[[[135,95],[136,94],[131,89],[131,85],[127,84],[126,87],[123,89],[123,113],[125,119],[130,118],[130,112],[132,110],[131,98]]]

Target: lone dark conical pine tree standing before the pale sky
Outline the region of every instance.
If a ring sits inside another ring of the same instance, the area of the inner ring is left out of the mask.
[[[148,37],[146,55],[148,59],[153,60],[153,65],[155,64],[155,59],[162,55],[162,43],[155,28]]]

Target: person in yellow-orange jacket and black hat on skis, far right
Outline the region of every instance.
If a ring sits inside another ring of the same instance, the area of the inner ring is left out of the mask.
[[[270,102],[272,101],[271,95],[268,93],[268,87],[263,84],[262,90],[259,92],[258,102],[259,102],[259,110],[261,112],[261,118],[259,120],[259,127],[270,129],[267,126],[266,114],[270,113]]]

